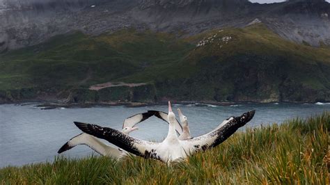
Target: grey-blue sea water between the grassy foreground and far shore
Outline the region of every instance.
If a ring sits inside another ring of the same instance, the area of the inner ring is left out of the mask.
[[[207,104],[173,104],[173,110],[181,108],[189,120],[192,136],[206,134],[232,115],[242,115],[256,110],[256,115],[245,127],[260,127],[261,124],[281,123],[290,118],[306,118],[330,111],[330,104],[235,104],[214,106]],[[167,106],[95,106],[92,108],[55,108],[42,110],[36,104],[0,105],[0,168],[22,166],[28,163],[53,161],[58,149],[81,131],[74,121],[100,124],[121,129],[123,120],[136,113],[148,110],[167,112]],[[162,141],[166,137],[168,124],[150,118],[138,124],[139,130],[132,136],[143,140]],[[243,127],[241,130],[244,130]],[[107,142],[107,141],[104,141]],[[80,145],[63,155],[76,158],[93,154],[89,147]]]

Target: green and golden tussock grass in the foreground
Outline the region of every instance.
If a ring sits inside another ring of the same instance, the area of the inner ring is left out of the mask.
[[[167,166],[131,156],[58,157],[0,170],[2,184],[327,184],[330,113],[237,132],[218,147]]]

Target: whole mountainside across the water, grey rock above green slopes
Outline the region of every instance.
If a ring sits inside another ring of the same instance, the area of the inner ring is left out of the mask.
[[[330,4],[0,0],[0,102],[330,102]]]

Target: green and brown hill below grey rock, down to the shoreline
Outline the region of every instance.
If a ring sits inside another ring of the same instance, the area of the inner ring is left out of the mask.
[[[265,24],[184,38],[136,29],[70,33],[0,58],[2,102],[330,102],[329,47],[284,40]],[[97,84],[105,87],[89,90]]]

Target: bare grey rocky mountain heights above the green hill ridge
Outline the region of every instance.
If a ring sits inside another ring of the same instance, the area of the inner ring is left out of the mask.
[[[194,35],[256,19],[288,40],[330,45],[329,15],[323,0],[0,0],[0,52],[70,31],[97,35],[134,27]]]

